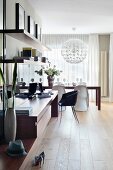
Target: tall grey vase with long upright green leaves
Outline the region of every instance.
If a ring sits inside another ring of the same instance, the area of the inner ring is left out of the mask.
[[[16,114],[14,109],[14,97],[15,97],[15,87],[16,87],[16,78],[17,78],[17,63],[14,65],[13,70],[13,81],[12,81],[12,98],[8,99],[7,87],[3,72],[0,68],[0,76],[4,84],[4,102],[6,106],[5,117],[4,117],[4,135],[5,141],[8,143],[15,140],[16,138]],[[10,104],[9,104],[10,100]]]

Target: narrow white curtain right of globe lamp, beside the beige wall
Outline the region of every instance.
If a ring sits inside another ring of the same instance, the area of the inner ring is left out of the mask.
[[[99,85],[99,37],[98,34],[89,35],[89,60],[88,60],[88,84]],[[94,100],[94,93],[90,93],[90,99]]]

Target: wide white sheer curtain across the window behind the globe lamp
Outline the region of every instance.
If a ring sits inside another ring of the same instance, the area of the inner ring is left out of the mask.
[[[43,43],[52,49],[52,51],[46,51],[44,56],[56,67],[62,70],[62,74],[59,77],[55,77],[56,82],[62,82],[67,85],[72,85],[72,83],[77,80],[87,82],[88,81],[88,56],[83,62],[78,64],[67,63],[63,56],[61,55],[61,49],[64,44],[69,39],[80,39],[88,45],[88,35],[44,35]]]

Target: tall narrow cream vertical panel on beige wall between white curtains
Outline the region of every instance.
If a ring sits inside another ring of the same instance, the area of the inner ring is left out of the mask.
[[[107,96],[108,60],[107,52],[101,51],[101,96]]]

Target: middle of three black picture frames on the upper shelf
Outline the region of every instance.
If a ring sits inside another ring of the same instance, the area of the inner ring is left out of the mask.
[[[35,37],[35,22],[30,15],[28,16],[28,32]]]

